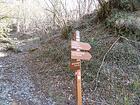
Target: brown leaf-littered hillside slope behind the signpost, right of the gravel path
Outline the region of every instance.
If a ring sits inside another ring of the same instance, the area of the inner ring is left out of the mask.
[[[129,102],[137,105],[140,101],[140,43],[116,35],[104,23],[95,24],[92,18],[91,14],[90,18],[81,19],[75,28],[81,33],[81,41],[92,46],[90,52],[93,58],[82,62],[84,104],[121,105]],[[43,92],[49,90],[48,94],[58,105],[74,105],[74,73],[69,68],[69,41],[58,33],[43,43],[39,50],[30,53],[32,63],[29,65],[34,78],[42,83]]]

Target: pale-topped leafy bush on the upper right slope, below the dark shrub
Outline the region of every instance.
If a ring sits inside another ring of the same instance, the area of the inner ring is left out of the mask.
[[[112,29],[116,35],[125,36],[133,40],[140,40],[139,17],[134,13],[113,10],[105,20],[107,28]]]

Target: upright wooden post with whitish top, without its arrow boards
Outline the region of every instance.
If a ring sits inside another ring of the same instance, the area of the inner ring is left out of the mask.
[[[80,32],[76,31],[74,39],[76,41],[80,42]],[[80,49],[77,49],[77,51],[80,51]],[[76,105],[82,105],[82,91],[81,91],[81,60],[77,59],[78,62],[80,62],[80,69],[75,71],[75,85],[76,85]]]

